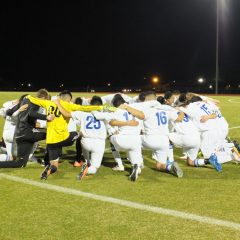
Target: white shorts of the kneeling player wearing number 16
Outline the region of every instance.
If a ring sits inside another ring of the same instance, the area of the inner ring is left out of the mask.
[[[168,151],[169,151],[169,139],[165,135],[143,135],[142,146],[146,149],[152,150],[152,158],[159,163],[166,164]]]

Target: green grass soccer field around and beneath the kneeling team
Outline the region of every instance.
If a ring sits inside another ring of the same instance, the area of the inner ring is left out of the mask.
[[[0,105],[19,96],[1,92]],[[240,140],[240,97],[215,98],[229,136]],[[111,170],[108,144],[99,172],[81,182],[79,168],[69,163],[74,147],[64,150],[58,172],[46,182],[39,180],[43,167],[35,163],[0,169],[0,239],[240,239],[240,165],[224,164],[218,173],[210,166],[188,167],[181,151],[174,154],[182,179],[154,170],[151,152],[144,151],[145,168],[131,182],[126,159],[126,171]]]

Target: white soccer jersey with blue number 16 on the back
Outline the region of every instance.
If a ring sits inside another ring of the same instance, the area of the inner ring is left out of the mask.
[[[148,108],[143,112],[145,115],[143,120],[144,133],[146,135],[168,135],[169,121],[175,121],[178,118],[177,112],[157,108]]]

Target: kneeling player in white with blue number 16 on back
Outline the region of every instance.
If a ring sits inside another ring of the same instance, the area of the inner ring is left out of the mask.
[[[182,177],[183,172],[177,162],[168,161],[169,151],[169,121],[181,121],[183,113],[178,115],[174,111],[166,111],[159,107],[149,107],[142,111],[132,108],[131,106],[122,106],[137,116],[142,116],[144,134],[142,136],[142,146],[145,149],[153,151],[153,159],[156,160],[156,169],[172,173],[177,177]]]

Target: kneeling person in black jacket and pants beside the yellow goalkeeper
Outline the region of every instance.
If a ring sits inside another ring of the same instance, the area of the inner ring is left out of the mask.
[[[48,99],[49,94],[45,89],[40,89],[36,97],[40,99]],[[36,126],[36,120],[48,120],[54,119],[54,115],[44,115],[38,113],[39,106],[32,104],[27,98],[24,98],[21,103],[17,104],[12,109],[9,109],[6,114],[11,116],[20,106],[28,104],[25,111],[18,114],[18,121],[15,131],[15,138],[17,142],[17,160],[0,162],[0,168],[21,168],[27,165],[29,155],[32,151],[33,144],[35,142],[46,139],[46,133],[38,131]]]

